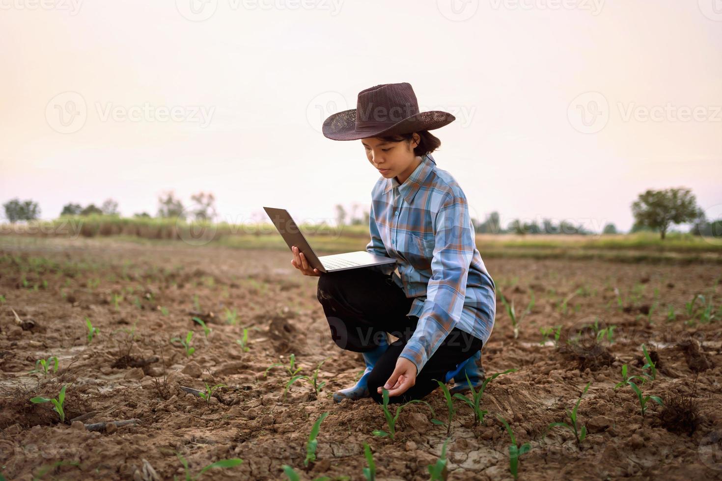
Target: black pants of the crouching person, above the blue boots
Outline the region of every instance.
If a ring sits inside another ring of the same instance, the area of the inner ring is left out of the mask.
[[[373,350],[389,332],[399,337],[388,346],[368,378],[371,397],[383,402],[377,388],[386,384],[406,342],[416,330],[418,317],[407,316],[414,298],[407,298],[391,275],[360,268],[324,273],[318,278],[318,301],[329,321],[331,337],[339,348],[357,353]],[[433,356],[417,373],[416,384],[389,403],[421,399],[439,387],[448,371],[482,348],[478,337],[454,327]]]

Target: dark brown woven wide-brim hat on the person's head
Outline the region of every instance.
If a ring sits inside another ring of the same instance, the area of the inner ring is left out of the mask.
[[[380,84],[358,94],[355,109],[329,115],[323,135],[334,141],[431,131],[456,120],[443,110],[419,112],[411,84]]]

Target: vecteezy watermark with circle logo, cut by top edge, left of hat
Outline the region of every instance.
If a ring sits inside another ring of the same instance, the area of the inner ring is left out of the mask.
[[[1,0],[0,0],[1,1]],[[327,10],[331,17],[341,11],[344,0],[227,0],[232,11],[243,10]],[[218,0],[175,0],[178,13],[191,22],[203,22],[217,12]]]

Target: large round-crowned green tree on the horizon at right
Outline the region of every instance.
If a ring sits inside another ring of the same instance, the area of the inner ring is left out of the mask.
[[[694,222],[704,216],[695,195],[686,187],[647,190],[632,203],[635,226],[659,231],[661,239],[672,224]]]

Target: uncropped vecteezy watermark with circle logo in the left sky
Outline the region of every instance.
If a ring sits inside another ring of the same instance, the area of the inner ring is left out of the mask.
[[[0,0],[1,1],[1,0]],[[197,123],[206,128],[213,119],[214,106],[206,105],[117,105],[95,102],[95,114],[100,122]],[[88,107],[78,92],[62,92],[45,106],[45,120],[58,133],[75,133],[85,125]],[[91,110],[92,111],[92,110]]]

